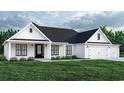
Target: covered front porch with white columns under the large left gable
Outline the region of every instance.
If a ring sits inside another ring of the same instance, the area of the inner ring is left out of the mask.
[[[4,50],[7,50],[4,56],[10,60],[16,57],[20,58],[29,57],[51,59],[51,43],[48,41],[22,41],[22,40],[11,40],[5,44]]]

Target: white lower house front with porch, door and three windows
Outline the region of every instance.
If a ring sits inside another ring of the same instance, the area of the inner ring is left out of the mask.
[[[68,51],[67,51],[68,50]],[[44,40],[9,40],[4,45],[4,56],[11,58],[47,59],[73,55],[72,46],[68,43],[55,43]]]

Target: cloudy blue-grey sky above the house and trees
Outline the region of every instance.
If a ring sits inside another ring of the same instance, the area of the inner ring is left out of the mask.
[[[107,25],[114,30],[124,29],[124,12],[116,11],[1,11],[0,30],[20,29],[31,21],[43,26],[72,28],[78,31]]]

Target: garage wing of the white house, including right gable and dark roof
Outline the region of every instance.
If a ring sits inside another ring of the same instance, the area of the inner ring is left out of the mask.
[[[113,44],[101,29],[80,33],[73,45],[73,55],[79,58],[115,59],[119,58],[119,44]]]

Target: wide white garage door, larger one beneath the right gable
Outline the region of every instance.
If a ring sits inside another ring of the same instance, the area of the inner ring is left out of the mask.
[[[108,58],[108,47],[107,46],[89,46],[88,47],[88,58]]]

